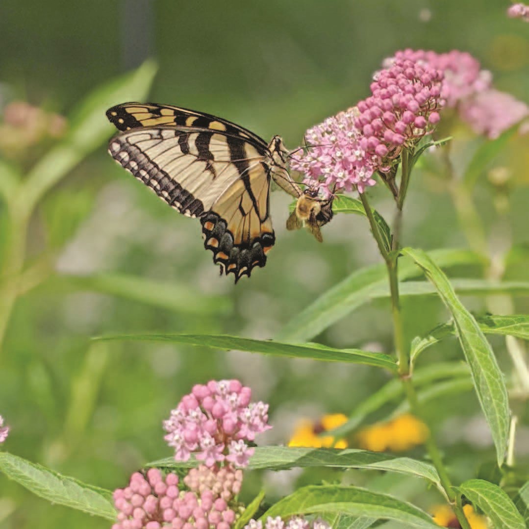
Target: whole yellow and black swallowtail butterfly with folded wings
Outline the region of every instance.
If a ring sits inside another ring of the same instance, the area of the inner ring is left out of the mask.
[[[186,108],[124,103],[109,108],[120,134],[108,151],[178,212],[200,218],[204,247],[235,281],[266,264],[275,244],[269,191],[303,191],[287,170],[280,136],[267,144],[222,118]]]

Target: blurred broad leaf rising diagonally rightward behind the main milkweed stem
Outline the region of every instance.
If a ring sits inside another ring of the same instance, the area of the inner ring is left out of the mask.
[[[482,263],[482,259],[469,250],[434,250],[431,256],[440,266],[445,267]],[[404,262],[399,266],[401,281],[415,276],[417,269],[412,263]],[[353,312],[355,308],[367,303],[377,290],[379,293],[381,289],[382,292],[389,293],[387,282],[385,265],[375,265],[353,272],[290,320],[276,338],[288,342],[310,340]]]

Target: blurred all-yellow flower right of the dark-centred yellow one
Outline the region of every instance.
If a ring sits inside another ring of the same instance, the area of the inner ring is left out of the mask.
[[[429,435],[426,425],[413,415],[405,414],[387,423],[378,423],[360,430],[360,448],[373,452],[404,452],[424,443]]]

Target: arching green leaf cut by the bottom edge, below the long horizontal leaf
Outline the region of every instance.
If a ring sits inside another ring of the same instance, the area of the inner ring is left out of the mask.
[[[261,520],[266,520],[268,516],[319,513],[382,518],[405,523],[408,527],[439,529],[431,516],[412,504],[379,492],[340,485],[300,488],[268,509]]]

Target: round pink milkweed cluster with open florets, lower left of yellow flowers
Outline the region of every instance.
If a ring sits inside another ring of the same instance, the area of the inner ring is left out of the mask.
[[[251,395],[238,380],[194,386],[163,422],[164,439],[175,449],[175,459],[187,461],[194,453],[207,467],[223,461],[247,466],[254,449],[246,441],[271,428],[268,404],[250,402]]]

